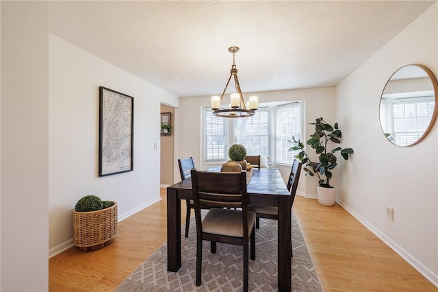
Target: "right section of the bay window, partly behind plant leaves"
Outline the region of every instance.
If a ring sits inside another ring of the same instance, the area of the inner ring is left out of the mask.
[[[296,102],[279,106],[276,110],[276,163],[292,164],[294,156],[298,154],[298,151],[289,151],[292,143],[287,141],[292,141],[292,136],[297,140],[302,139],[301,108],[301,104]]]

